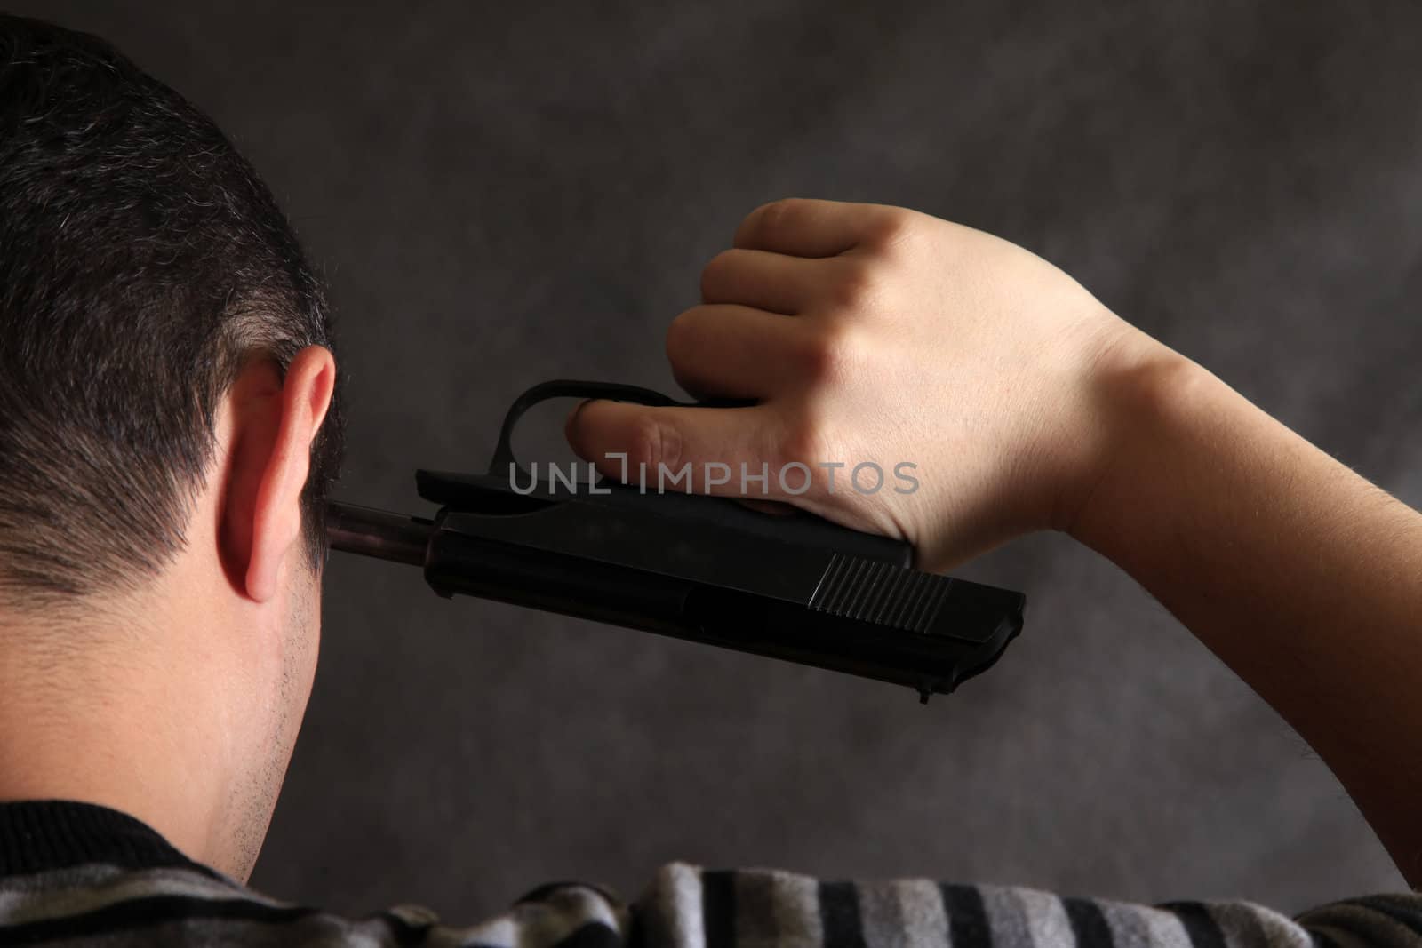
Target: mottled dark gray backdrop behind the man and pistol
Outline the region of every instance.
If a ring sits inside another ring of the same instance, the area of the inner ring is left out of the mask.
[[[1415,4],[18,7],[118,43],[272,183],[340,310],[348,499],[412,509],[417,465],[483,465],[533,381],[670,387],[705,260],[806,195],[1022,243],[1422,502]],[[253,883],[464,921],[677,857],[1285,911],[1402,885],[1109,563],[1041,536],[961,573],[1027,590],[1027,632],[924,709],[337,556]]]

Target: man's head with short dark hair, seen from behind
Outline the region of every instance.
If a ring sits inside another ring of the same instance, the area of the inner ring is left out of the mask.
[[[0,16],[0,688],[95,684],[95,655],[235,665],[203,685],[243,705],[205,742],[237,871],[314,671],[330,344],[319,277],[205,115],[101,40]]]

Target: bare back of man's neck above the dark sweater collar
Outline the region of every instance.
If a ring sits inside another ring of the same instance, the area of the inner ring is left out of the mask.
[[[192,632],[193,630],[188,630]],[[0,615],[0,800],[77,800],[148,823],[222,871],[236,777],[220,661],[161,624]]]

